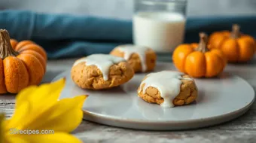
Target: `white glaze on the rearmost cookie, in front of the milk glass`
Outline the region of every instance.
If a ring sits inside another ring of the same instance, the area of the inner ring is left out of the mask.
[[[137,53],[139,55],[139,59],[141,60],[142,71],[144,72],[147,70],[146,51],[148,50],[148,47],[125,44],[117,48],[124,53],[123,58],[126,60],[129,60],[133,53]]]

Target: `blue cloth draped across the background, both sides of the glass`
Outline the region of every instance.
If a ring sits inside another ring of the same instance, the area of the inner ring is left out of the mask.
[[[230,29],[233,23],[256,37],[256,17],[189,17],[184,42],[197,42],[198,32]],[[8,10],[0,11],[0,28],[18,41],[30,39],[40,44],[49,59],[109,53],[118,44],[133,42],[131,21],[102,17]]]

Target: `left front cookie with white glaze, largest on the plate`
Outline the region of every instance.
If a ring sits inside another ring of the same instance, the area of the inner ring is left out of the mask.
[[[133,68],[125,59],[107,54],[93,54],[78,59],[71,71],[78,87],[102,90],[117,87],[133,78]]]

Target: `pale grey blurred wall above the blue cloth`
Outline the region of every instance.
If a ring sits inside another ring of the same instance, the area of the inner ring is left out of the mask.
[[[1,0],[0,8],[130,20],[133,0]],[[256,0],[187,0],[187,17],[255,14]]]

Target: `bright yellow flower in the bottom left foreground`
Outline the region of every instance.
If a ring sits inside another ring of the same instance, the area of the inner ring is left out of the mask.
[[[3,121],[0,116],[0,143],[80,143],[69,133],[83,119],[81,108],[87,96],[58,100],[64,86],[61,79],[20,91],[11,119]]]

